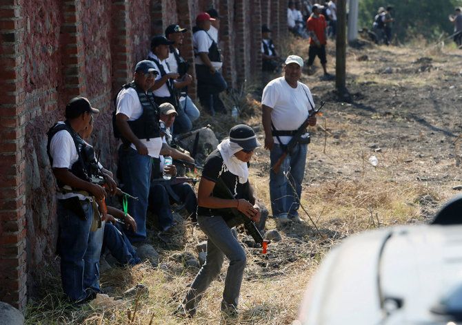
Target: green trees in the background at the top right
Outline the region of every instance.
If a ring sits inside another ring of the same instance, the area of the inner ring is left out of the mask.
[[[441,34],[452,34],[453,25],[448,19],[461,0],[359,0],[359,28],[372,29],[379,7],[393,6],[394,37],[405,43],[419,35],[432,41]]]

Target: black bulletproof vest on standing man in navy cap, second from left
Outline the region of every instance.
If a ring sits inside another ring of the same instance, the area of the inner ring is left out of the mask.
[[[128,120],[127,123],[132,129],[132,132],[137,138],[139,139],[146,139],[150,140],[152,138],[159,138],[161,133],[159,132],[159,119],[161,118],[161,113],[159,110],[159,106],[154,103],[154,96],[152,92],[148,90],[148,94],[146,94],[136,83],[127,83],[123,85],[121,90],[128,89],[132,87],[134,90],[137,91],[139,101],[141,106],[143,107],[143,114],[137,118],[137,120]],[[120,93],[120,91],[119,91]],[[119,94],[117,94],[119,96]],[[117,101],[117,97],[116,100]],[[114,136],[116,138],[121,138],[125,145],[130,145],[130,141],[125,139],[119,131],[116,123],[116,112],[117,112],[117,105],[112,113],[112,127],[114,129]]]

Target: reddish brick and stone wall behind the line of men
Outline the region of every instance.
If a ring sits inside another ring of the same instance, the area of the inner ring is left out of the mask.
[[[192,25],[212,6],[224,16],[226,81],[237,87],[258,78],[260,25],[268,23],[274,38],[283,35],[287,0],[0,1],[0,301],[23,309],[54,258],[55,181],[46,131],[63,119],[68,100],[86,96],[101,110],[90,142],[114,170],[114,96],[131,81],[152,36],[170,23],[188,28],[181,50],[192,63]],[[195,85],[189,90],[194,98]]]

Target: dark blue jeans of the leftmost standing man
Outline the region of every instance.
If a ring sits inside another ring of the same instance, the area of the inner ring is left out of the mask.
[[[101,229],[90,231],[93,220],[92,204],[80,201],[86,220],[66,208],[58,200],[59,244],[61,247],[61,280],[63,291],[70,300],[83,300],[99,289],[99,255]]]

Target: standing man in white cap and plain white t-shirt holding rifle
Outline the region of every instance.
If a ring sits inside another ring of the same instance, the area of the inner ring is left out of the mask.
[[[314,112],[310,89],[299,82],[302,68],[303,59],[300,56],[288,56],[285,60],[284,76],[270,81],[263,90],[261,99],[265,149],[270,150],[272,166],[271,209],[280,224],[287,224],[290,220],[300,221],[299,198],[309,137],[300,136],[297,139],[294,135],[299,129],[302,131],[299,134],[305,134],[308,125],[316,125],[316,116],[310,115],[311,110]],[[288,144],[292,138],[297,144],[288,152]],[[280,159],[281,167],[278,170],[274,165]]]

